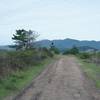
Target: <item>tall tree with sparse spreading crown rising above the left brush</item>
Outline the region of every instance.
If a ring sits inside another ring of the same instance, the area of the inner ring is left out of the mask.
[[[15,41],[16,50],[25,50],[33,47],[33,43],[36,40],[38,33],[35,31],[16,30],[12,39]]]

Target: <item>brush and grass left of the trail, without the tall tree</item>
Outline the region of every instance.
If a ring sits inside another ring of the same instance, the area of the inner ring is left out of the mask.
[[[0,52],[0,100],[25,86],[53,56],[47,48]]]

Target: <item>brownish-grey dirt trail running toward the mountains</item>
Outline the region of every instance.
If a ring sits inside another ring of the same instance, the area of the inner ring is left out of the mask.
[[[13,100],[96,100],[84,86],[84,75],[74,57],[49,65],[28,89]]]

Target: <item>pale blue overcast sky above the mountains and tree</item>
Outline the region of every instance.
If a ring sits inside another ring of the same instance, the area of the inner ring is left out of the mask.
[[[100,40],[100,0],[0,0],[0,45],[22,28],[38,40]]]

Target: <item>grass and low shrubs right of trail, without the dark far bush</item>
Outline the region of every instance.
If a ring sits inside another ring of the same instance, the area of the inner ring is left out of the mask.
[[[79,58],[84,73],[89,79],[92,79],[95,86],[100,89],[100,53],[81,53]]]

